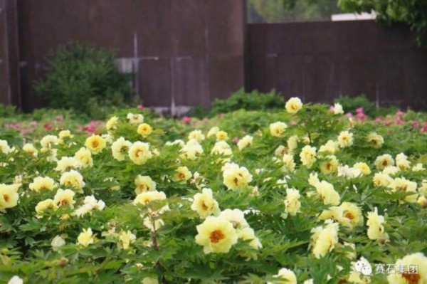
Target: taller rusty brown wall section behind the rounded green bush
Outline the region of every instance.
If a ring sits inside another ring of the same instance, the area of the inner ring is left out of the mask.
[[[24,110],[43,105],[32,82],[69,41],[115,48],[144,105],[207,105],[243,86],[243,0],[17,1]]]

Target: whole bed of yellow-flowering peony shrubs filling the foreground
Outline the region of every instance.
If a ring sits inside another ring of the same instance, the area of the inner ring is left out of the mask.
[[[426,143],[297,98],[1,139],[0,282],[427,283]]]

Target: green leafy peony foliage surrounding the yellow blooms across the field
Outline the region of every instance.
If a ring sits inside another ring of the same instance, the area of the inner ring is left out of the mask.
[[[47,160],[51,152],[41,150],[39,139],[33,140],[39,150],[34,156],[21,149],[22,140],[14,130],[0,130],[0,139],[16,146],[14,151],[0,152],[0,184],[18,183],[16,176],[21,176],[19,203],[0,214],[0,283],[8,283],[13,275],[19,275],[24,283],[157,283],[156,280],[159,283],[266,283],[278,281],[274,275],[280,268],[288,268],[295,273],[298,283],[312,278],[314,283],[332,284],[347,280],[352,261],[361,256],[374,264],[395,263],[409,253],[426,254],[426,209],[416,202],[403,201],[408,192],[375,186],[372,179],[381,172],[376,168],[376,157],[381,154],[396,157],[404,152],[411,167],[399,168],[398,174],[391,178],[405,177],[416,183],[416,194],[425,194],[421,186],[426,179],[426,169],[416,172],[412,166],[418,162],[427,164],[427,135],[407,124],[386,126],[370,120],[351,122],[345,115],[334,115],[328,105],[305,104],[294,115],[285,112],[283,105],[277,110],[236,110],[206,120],[206,124],[196,120],[198,123],[194,125],[164,119],[145,109],[117,110],[111,114],[118,117],[117,125],[109,131],[102,130],[111,142],[92,155],[92,166],[77,169],[85,182],[83,192],[60,184],[63,173],[56,169],[58,162]],[[139,135],[138,125],[127,120],[128,112],[144,115],[144,122],[152,126],[153,132],[147,137]],[[53,117],[57,113],[49,115]],[[34,117],[41,117],[41,113]],[[416,112],[407,112],[405,117],[426,119],[425,114]],[[282,135],[271,134],[270,124],[274,122],[288,125]],[[207,137],[207,133],[213,126],[228,132],[231,156],[211,154],[216,137]],[[181,147],[170,146],[167,142],[175,139],[187,142],[189,132],[195,128],[206,136],[200,141],[204,151],[197,154],[196,159],[184,159]],[[332,154],[320,152],[320,147],[329,140],[336,142],[345,130],[352,133],[354,142],[349,147],[334,149],[334,157],[340,165],[349,167],[366,162],[370,174],[347,178],[337,171],[325,172],[322,168],[322,163]],[[381,147],[375,148],[367,142],[371,132],[384,138]],[[75,152],[85,147],[88,135],[73,134],[74,137],[64,137],[60,144],[53,145],[58,160],[74,157]],[[238,149],[232,138],[245,135],[251,135],[253,142]],[[296,148],[291,151],[287,142],[294,135],[298,139]],[[138,165],[125,151],[124,160],[114,159],[112,142],[120,137],[130,142],[149,142],[152,158]],[[275,153],[280,145],[292,154],[295,170],[283,169],[282,157]],[[300,158],[307,145],[317,149],[317,160],[310,169]],[[158,156],[154,149],[158,150]],[[248,169],[252,177],[248,187],[227,188],[221,169],[225,159]],[[171,177],[178,167],[188,167],[193,177],[183,182],[174,181]],[[196,172],[201,175],[199,180],[196,180]],[[309,184],[309,175],[314,172],[320,180],[333,184],[340,203],[356,204],[364,218],[353,228],[340,224],[338,242],[322,258],[312,253],[312,229],[324,226],[319,215],[331,205],[325,204],[315,187]],[[132,204],[137,175],[151,177],[156,182],[156,190],[163,191],[167,198],[145,205]],[[46,176],[58,182],[57,187],[75,191],[74,208],[60,206],[38,216],[35,211],[38,202],[53,199],[57,188],[35,191],[29,187],[36,177]],[[259,238],[262,248],[255,249],[250,246],[251,240],[239,238],[226,253],[204,253],[195,241],[197,226],[204,219],[191,208],[195,194],[201,193],[204,187],[212,189],[222,211],[251,209],[244,219]],[[286,189],[291,188],[300,192],[301,207],[295,216],[284,216]],[[0,190],[3,189],[0,187]],[[74,212],[90,195],[104,201],[105,209],[93,209],[83,216],[75,216]],[[384,231],[389,235],[389,242],[371,240],[367,236],[367,214],[375,207],[384,216]],[[155,229],[147,226],[157,219],[162,219],[164,226]],[[78,243],[78,236],[86,228],[92,228],[94,241],[83,246]],[[136,239],[130,242],[129,248],[124,248],[120,233],[127,231]],[[66,243],[54,249],[52,241],[56,236]],[[346,246],[345,242],[355,247]],[[154,280],[149,282],[147,278]],[[386,275],[371,276],[371,283],[386,281]]]

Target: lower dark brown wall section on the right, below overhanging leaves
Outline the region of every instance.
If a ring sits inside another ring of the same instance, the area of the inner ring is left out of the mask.
[[[248,89],[330,102],[366,94],[380,104],[427,105],[427,48],[374,21],[248,25]]]

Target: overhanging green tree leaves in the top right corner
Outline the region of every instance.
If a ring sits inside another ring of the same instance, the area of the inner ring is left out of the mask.
[[[382,23],[406,23],[417,33],[421,46],[427,44],[427,2],[425,0],[339,0],[343,11],[362,13],[375,11]]]

